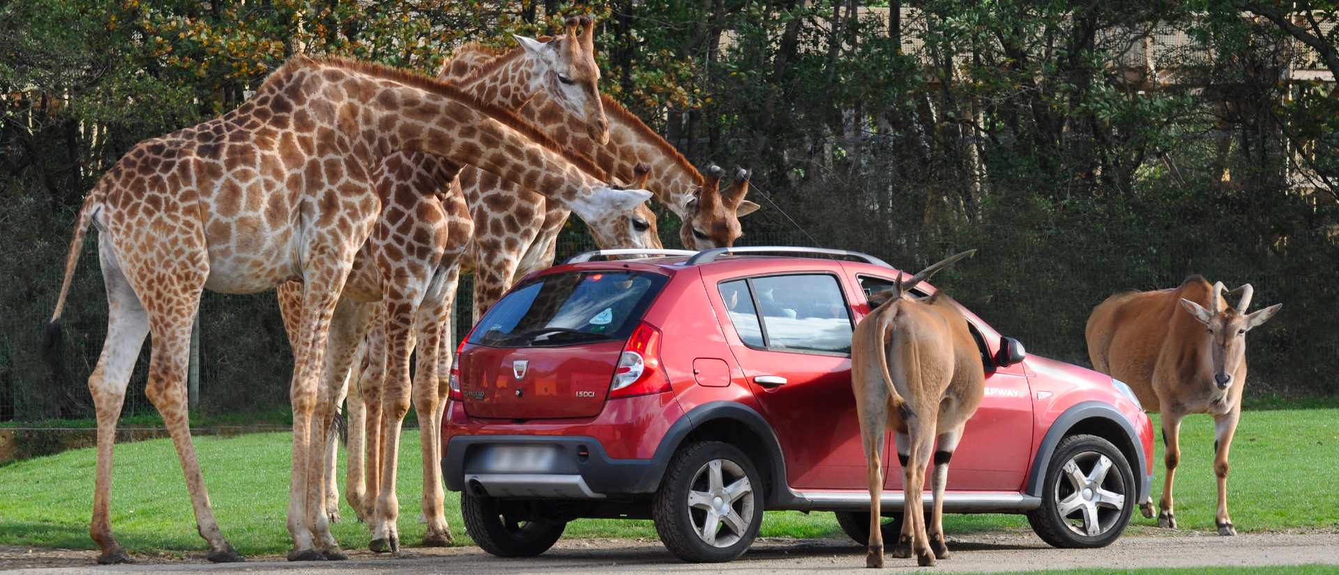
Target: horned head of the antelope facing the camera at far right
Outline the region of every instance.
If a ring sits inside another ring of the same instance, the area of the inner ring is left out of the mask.
[[[1248,314],[1245,309],[1251,305],[1251,293],[1253,290],[1247,283],[1232,290],[1232,293],[1239,292],[1243,296],[1236,309],[1223,304],[1223,282],[1213,286],[1213,296],[1210,297],[1216,308],[1213,312],[1204,309],[1193,301],[1181,300],[1181,305],[1186,312],[1190,312],[1190,316],[1204,322],[1205,329],[1209,332],[1209,364],[1213,373],[1213,385],[1218,389],[1228,389],[1235,384],[1233,374],[1237,373],[1237,368],[1241,366],[1241,361],[1247,357],[1247,332],[1264,324],[1279,308],[1283,308],[1283,304],[1275,304]]]

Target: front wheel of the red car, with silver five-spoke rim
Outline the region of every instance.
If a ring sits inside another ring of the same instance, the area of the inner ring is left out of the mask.
[[[1125,455],[1110,441],[1069,436],[1051,455],[1042,483],[1042,507],[1028,511],[1027,522],[1054,547],[1106,547],[1130,523],[1139,503],[1137,485]]]

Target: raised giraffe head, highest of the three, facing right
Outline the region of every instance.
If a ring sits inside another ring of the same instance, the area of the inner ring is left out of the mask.
[[[585,119],[586,134],[604,146],[609,143],[609,120],[600,103],[600,67],[595,63],[595,20],[569,17],[566,35],[550,41],[516,36],[534,62],[538,82],[553,102],[574,118]]]

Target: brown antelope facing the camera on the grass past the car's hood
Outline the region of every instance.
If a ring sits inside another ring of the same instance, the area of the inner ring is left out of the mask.
[[[1192,275],[1176,289],[1117,292],[1093,309],[1086,337],[1093,366],[1129,384],[1144,409],[1162,413],[1168,473],[1158,526],[1176,528],[1172,480],[1181,461],[1181,419],[1209,413],[1214,421],[1213,473],[1218,476],[1214,523],[1218,535],[1236,535],[1228,516],[1228,449],[1241,417],[1245,334],[1283,304],[1248,314],[1255,293],[1251,283],[1228,292],[1241,294],[1236,309],[1224,304],[1223,288],[1223,282],[1209,288],[1202,277]],[[1145,518],[1153,518],[1152,499],[1141,507]]]

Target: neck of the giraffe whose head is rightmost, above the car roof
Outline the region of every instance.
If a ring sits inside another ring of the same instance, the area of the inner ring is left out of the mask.
[[[601,98],[605,110],[617,106],[608,96]],[[659,136],[631,114],[620,111],[608,114],[609,143],[604,146],[596,144],[585,131],[572,130],[568,124],[569,114],[542,94],[521,108],[520,114],[558,143],[593,159],[601,170],[624,182],[632,181],[632,167],[639,162],[651,166],[647,191],[655,195],[656,202],[683,218],[684,207],[692,199],[694,191],[702,189],[702,174],[668,148],[668,143],[659,146],[649,140]]]

